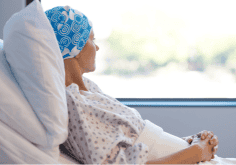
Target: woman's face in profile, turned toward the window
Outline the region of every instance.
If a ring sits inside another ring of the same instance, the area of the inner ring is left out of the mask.
[[[99,47],[94,43],[94,32],[92,29],[84,48],[75,57],[83,73],[93,72],[95,70],[95,56],[98,50]]]

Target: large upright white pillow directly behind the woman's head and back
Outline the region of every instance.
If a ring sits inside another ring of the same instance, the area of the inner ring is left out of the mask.
[[[47,145],[38,147],[45,152],[53,149],[51,156],[58,159],[59,144],[68,136],[64,62],[38,0],[7,21],[3,40],[12,73],[46,130]]]

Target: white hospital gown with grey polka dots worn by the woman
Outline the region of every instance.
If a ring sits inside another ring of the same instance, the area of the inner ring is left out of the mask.
[[[69,134],[64,146],[84,164],[145,164],[148,146],[135,143],[145,127],[138,111],[104,94],[83,77],[88,91],[66,87]]]

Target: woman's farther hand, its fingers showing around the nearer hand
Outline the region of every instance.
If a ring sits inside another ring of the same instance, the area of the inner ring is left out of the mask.
[[[201,138],[202,140],[205,140],[206,137],[207,137],[209,134],[213,136],[213,138],[210,139],[210,143],[212,143],[212,144],[215,145],[215,147],[214,147],[214,149],[213,149],[213,155],[212,155],[212,159],[214,159],[214,158],[215,158],[214,155],[216,154],[216,152],[217,152],[217,150],[218,150],[218,144],[219,144],[218,137],[217,137],[216,135],[214,135],[212,131],[206,131],[206,130],[201,131],[201,132],[199,132],[199,133],[196,134],[196,135],[197,135],[197,138]],[[189,144],[191,144],[192,141],[193,141],[193,139],[194,139],[194,137],[195,137],[195,135],[192,135],[192,136],[183,137],[182,139],[185,140],[185,141],[187,141]]]

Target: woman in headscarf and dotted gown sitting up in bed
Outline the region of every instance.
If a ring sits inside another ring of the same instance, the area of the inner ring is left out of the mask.
[[[143,120],[137,110],[104,94],[83,77],[84,73],[95,71],[99,50],[94,43],[92,23],[84,14],[69,6],[45,13],[65,64],[69,135],[64,145],[78,160],[85,164],[194,164],[214,158],[219,142],[212,132],[183,138],[186,142]],[[147,130],[150,138],[145,140],[143,132]],[[160,137],[165,148],[177,149],[162,154],[156,140]],[[148,144],[151,138],[154,142]],[[169,143],[173,141],[173,145],[178,145],[177,141],[181,145],[173,147]]]

